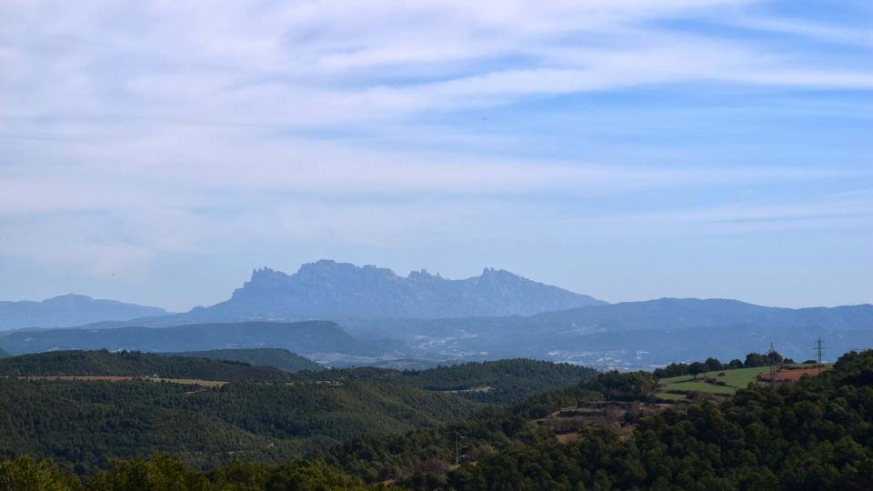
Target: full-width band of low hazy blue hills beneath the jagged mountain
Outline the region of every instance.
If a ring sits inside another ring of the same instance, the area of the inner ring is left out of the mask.
[[[662,298],[583,306],[536,316],[243,322],[0,335],[10,354],[56,349],[190,351],[277,347],[328,366],[403,366],[528,357],[633,369],[766,351],[802,361],[818,336],[829,353],[873,347],[873,306],[776,308],[734,300]],[[395,365],[399,363],[400,365]]]

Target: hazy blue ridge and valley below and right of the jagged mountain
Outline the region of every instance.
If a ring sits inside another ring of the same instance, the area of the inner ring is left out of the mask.
[[[736,300],[662,298],[584,306],[537,316],[348,322],[355,336],[390,336],[407,356],[527,356],[635,368],[766,351],[808,359],[818,336],[828,353],[873,347],[873,306],[778,308]]]

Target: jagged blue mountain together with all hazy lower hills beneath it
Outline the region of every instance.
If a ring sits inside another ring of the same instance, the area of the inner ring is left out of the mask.
[[[132,307],[131,315],[149,308]],[[68,326],[76,318],[81,314],[52,322]],[[257,269],[216,306],[81,329],[6,333],[0,348],[22,354],[276,347],[334,366],[525,356],[635,368],[699,353],[729,359],[770,343],[786,356],[806,359],[818,336],[834,353],[873,345],[873,306],[789,309],[693,298],[607,304],[490,268],[449,280],[323,260],[293,275]]]

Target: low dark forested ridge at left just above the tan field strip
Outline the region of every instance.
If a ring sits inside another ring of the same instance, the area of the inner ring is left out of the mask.
[[[0,376],[144,376],[225,382],[287,381],[269,366],[205,357],[158,356],[139,352],[52,351],[0,360]]]

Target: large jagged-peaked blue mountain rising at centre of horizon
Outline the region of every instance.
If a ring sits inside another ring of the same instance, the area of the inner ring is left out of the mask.
[[[426,271],[397,276],[376,266],[321,260],[293,275],[257,269],[226,302],[178,316],[196,322],[344,318],[527,316],[603,304],[487,268],[481,276],[450,280]]]

